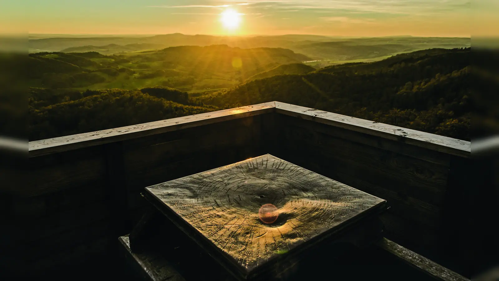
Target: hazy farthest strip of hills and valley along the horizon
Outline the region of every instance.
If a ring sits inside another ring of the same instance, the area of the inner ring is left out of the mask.
[[[322,67],[355,59],[380,60],[385,56],[420,49],[469,47],[471,46],[471,38],[413,36],[341,38],[304,34],[213,36],[173,33],[154,36],[32,37],[28,41],[30,52],[99,51],[103,54],[171,46],[223,44],[245,49],[258,47],[287,48],[311,57],[312,60],[321,60],[316,63]]]

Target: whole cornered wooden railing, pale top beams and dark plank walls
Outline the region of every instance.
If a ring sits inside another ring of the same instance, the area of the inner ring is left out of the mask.
[[[386,199],[387,238],[466,275],[469,214],[455,213],[469,192],[470,144],[267,102],[31,141],[30,184],[13,209],[29,225],[32,268],[55,266],[128,233],[145,186],[270,153]]]

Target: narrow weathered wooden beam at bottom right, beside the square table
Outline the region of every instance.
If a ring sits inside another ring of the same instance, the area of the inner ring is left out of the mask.
[[[403,259],[410,265],[430,274],[441,281],[470,281],[470,279],[420,255],[387,238],[381,239],[377,245],[391,254]],[[401,278],[403,279],[403,277]]]

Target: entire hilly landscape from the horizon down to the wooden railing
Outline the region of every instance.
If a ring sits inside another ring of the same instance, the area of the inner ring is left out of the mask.
[[[293,34],[32,36],[29,139],[278,100],[468,140],[470,43]]]

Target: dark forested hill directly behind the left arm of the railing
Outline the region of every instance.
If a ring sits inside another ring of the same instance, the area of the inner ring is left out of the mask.
[[[30,88],[28,109],[31,141],[223,108],[190,100],[187,92],[157,86],[85,91]]]

